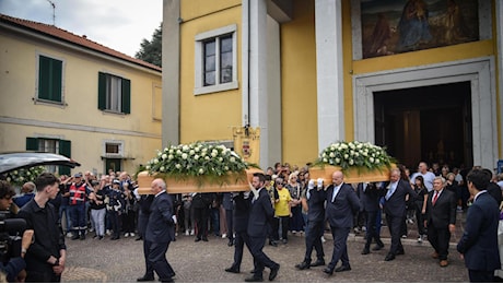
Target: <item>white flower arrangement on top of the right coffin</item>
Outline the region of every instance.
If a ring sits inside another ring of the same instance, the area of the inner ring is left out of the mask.
[[[394,163],[386,150],[370,142],[336,142],[328,145],[318,157],[316,164],[340,166],[342,169],[350,167],[381,169],[390,167]]]

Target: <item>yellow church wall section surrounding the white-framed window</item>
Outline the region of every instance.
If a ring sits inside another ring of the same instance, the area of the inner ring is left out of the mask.
[[[180,25],[180,143],[232,140],[232,127],[241,127],[241,90],[194,95],[195,37],[237,25],[237,80],[241,86],[241,1],[185,1]]]

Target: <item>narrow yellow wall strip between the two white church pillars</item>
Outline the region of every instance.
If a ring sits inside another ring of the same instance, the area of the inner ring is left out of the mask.
[[[318,156],[314,1],[295,0],[293,11],[281,25],[282,162],[304,166]]]

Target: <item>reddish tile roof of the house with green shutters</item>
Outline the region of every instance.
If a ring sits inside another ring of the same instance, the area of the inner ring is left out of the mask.
[[[87,39],[85,36],[74,35],[74,34],[72,34],[72,33],[70,33],[68,31],[61,29],[61,28],[59,28],[57,26],[54,26],[54,25],[43,24],[43,23],[33,22],[33,21],[23,20],[23,19],[17,19],[17,17],[4,15],[4,14],[0,14],[0,22],[11,24],[11,25],[17,26],[17,27],[31,29],[32,32],[39,33],[39,34],[43,34],[43,35],[47,35],[49,37],[55,37],[57,39],[61,39],[63,42],[67,42],[67,43],[73,44],[73,45],[78,45],[78,46],[81,46],[81,47],[84,47],[84,48],[87,48],[87,49],[91,49],[91,50],[94,50],[94,51],[97,51],[97,52],[101,52],[101,54],[105,54],[105,55],[110,56],[110,57],[115,57],[115,58],[118,58],[118,59],[121,59],[121,60],[126,60],[126,61],[132,62],[132,63],[138,64],[138,66],[142,66],[142,67],[145,67],[145,68],[149,68],[149,69],[153,69],[155,71],[160,71],[160,72],[162,71],[162,68],[160,68],[157,66],[151,64],[149,62],[145,62],[145,61],[137,59],[137,58],[129,57],[129,56],[127,56],[125,54],[121,54],[121,52],[119,52],[117,50],[114,50],[114,49],[108,48],[106,46],[102,46],[102,45],[100,45],[97,43],[94,43],[93,40]]]

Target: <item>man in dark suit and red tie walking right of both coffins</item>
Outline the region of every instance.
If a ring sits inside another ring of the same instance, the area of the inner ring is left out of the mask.
[[[438,259],[442,268],[447,267],[448,244],[451,234],[456,229],[456,196],[451,190],[444,190],[445,179],[433,179],[433,191],[426,199],[428,240],[435,251],[432,257]]]

